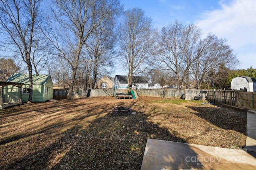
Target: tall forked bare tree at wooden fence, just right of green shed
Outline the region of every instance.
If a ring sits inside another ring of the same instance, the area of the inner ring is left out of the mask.
[[[88,37],[120,8],[118,0],[54,0],[54,22],[51,25],[56,29],[49,29],[47,37],[57,49],[56,55],[66,60],[72,68],[68,100],[73,99],[76,72],[82,62],[80,55]]]

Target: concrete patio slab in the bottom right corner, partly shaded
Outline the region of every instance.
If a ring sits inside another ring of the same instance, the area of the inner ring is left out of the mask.
[[[148,139],[141,170],[255,170],[256,158],[244,150]]]

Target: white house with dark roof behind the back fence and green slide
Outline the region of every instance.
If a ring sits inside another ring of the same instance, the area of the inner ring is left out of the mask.
[[[136,84],[137,89],[148,88],[148,81],[142,76],[133,76],[132,81]],[[127,89],[128,88],[128,76],[116,75],[113,82],[114,88],[116,89]],[[134,87],[134,85],[132,85]]]

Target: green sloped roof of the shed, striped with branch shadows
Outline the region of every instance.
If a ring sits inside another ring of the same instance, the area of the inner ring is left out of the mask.
[[[33,74],[33,85],[44,85],[49,77],[50,75]],[[14,73],[6,80],[6,82],[18,82],[23,84],[29,84],[29,74]]]

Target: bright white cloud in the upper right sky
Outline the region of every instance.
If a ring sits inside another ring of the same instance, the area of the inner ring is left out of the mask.
[[[205,12],[196,21],[204,33],[212,32],[228,39],[244,68],[256,68],[256,0],[220,1],[220,9]],[[248,47],[251,49],[248,51]],[[246,51],[243,51],[246,50]],[[244,56],[246,55],[246,56]],[[244,61],[244,59],[248,61]]]

